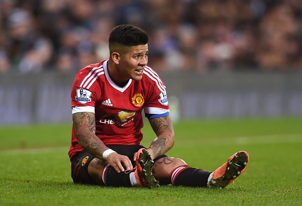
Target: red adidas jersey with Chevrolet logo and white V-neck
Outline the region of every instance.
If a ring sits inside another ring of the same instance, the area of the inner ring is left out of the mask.
[[[149,118],[169,114],[165,85],[153,69],[145,66],[142,80],[129,79],[124,87],[119,87],[108,74],[107,62],[89,65],[78,72],[71,91],[72,114],[95,113],[95,135],[105,145],[140,144],[142,109]],[[71,143],[70,158],[83,150],[73,126]]]

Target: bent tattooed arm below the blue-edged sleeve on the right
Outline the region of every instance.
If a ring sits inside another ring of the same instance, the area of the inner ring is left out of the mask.
[[[149,119],[150,125],[156,134],[156,138],[148,148],[151,157],[154,159],[169,151],[175,141],[174,129],[170,115]]]

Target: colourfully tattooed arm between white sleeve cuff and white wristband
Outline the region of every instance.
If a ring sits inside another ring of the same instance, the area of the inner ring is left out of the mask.
[[[95,114],[74,113],[72,120],[79,144],[96,157],[101,156],[108,147],[95,135]]]

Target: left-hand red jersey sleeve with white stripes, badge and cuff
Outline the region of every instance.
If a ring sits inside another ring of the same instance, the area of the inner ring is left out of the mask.
[[[98,84],[89,85],[86,82],[91,76],[91,69],[84,68],[78,72],[71,90],[72,114],[78,112],[95,113],[95,102],[100,95]]]

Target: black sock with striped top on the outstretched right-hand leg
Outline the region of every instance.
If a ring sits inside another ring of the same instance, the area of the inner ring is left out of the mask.
[[[171,173],[172,185],[189,187],[207,187],[207,181],[212,172],[192,168],[188,165],[176,167]]]

